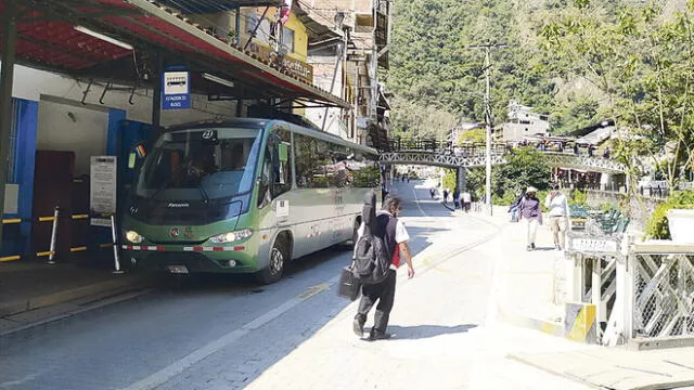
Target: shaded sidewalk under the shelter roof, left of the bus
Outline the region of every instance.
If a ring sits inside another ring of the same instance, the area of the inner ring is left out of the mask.
[[[73,315],[149,282],[146,274],[115,275],[69,263],[0,263],[0,335]]]

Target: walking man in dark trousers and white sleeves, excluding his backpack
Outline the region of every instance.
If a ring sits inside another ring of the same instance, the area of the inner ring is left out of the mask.
[[[401,256],[408,264],[408,276],[414,276],[414,268],[412,266],[412,255],[408,242],[410,235],[404,223],[398,219],[400,212],[400,199],[395,196],[388,196],[383,204],[383,209],[376,213],[376,226],[373,235],[381,237],[386,246],[389,258],[393,259],[388,276],[385,281],[361,287],[361,301],[359,302],[359,311],[355,316],[354,330],[357,336],[362,337],[364,332],[364,323],[371,308],[378,301],[376,313],[374,315],[374,325],[369,334],[369,340],[382,340],[390,338],[390,334],[386,333],[388,327],[388,318],[390,310],[395,301],[395,284],[397,278],[397,270],[401,265]],[[364,224],[359,227],[359,236],[363,234]]]

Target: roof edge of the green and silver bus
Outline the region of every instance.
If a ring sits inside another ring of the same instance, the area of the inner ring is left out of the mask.
[[[250,128],[257,128],[257,129],[264,129],[266,127],[269,127],[271,125],[281,125],[281,126],[285,126],[287,128],[290,128],[293,132],[299,133],[299,134],[304,134],[304,135],[308,135],[308,136],[314,136],[318,139],[322,139],[323,141],[329,141],[329,142],[334,142],[337,144],[340,144],[343,146],[349,146],[349,147],[354,147],[354,148],[358,148],[361,150],[362,152],[369,152],[369,153],[373,153],[373,154],[378,154],[378,152],[372,147],[369,146],[364,146],[364,145],[360,145],[360,144],[356,144],[354,142],[349,142],[347,140],[342,139],[338,135],[335,134],[331,134],[324,131],[321,131],[319,129],[312,129],[312,128],[306,128],[306,127],[301,127],[301,126],[297,126],[284,120],[277,120],[277,119],[262,119],[262,118],[235,118],[235,119],[228,119],[228,120],[202,120],[202,121],[195,121],[195,122],[189,122],[189,123],[181,123],[181,125],[175,125],[175,126],[168,126],[166,127],[166,131],[181,131],[181,130],[190,130],[190,129],[198,129],[198,128],[205,128],[205,127],[209,127],[209,126],[218,126],[218,127],[250,127]]]

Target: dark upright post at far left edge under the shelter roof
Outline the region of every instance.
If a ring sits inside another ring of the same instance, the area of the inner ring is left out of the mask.
[[[8,181],[8,156],[12,127],[12,84],[14,81],[15,44],[17,40],[17,2],[5,0],[2,31],[2,69],[0,70],[0,252],[2,251],[2,217]]]

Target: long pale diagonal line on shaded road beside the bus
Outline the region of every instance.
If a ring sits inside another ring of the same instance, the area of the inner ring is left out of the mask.
[[[191,368],[195,364],[200,363],[204,359],[210,356],[211,354],[214,354],[216,352],[219,352],[223,348],[226,348],[226,347],[234,343],[239,339],[243,338],[244,336],[246,336],[250,332],[260,328],[261,326],[268,324],[272,320],[274,320],[274,318],[279,317],[280,315],[288,312],[294,307],[300,304],[301,302],[305,302],[310,297],[313,297],[313,296],[320,294],[321,291],[325,291],[325,290],[330,289],[330,286],[335,285],[338,281],[339,281],[339,276],[336,276],[336,277],[331,278],[330,281],[326,281],[323,284],[320,284],[320,285],[313,286],[313,287],[309,287],[308,290],[306,292],[304,292],[303,295],[285,301],[284,303],[280,304],[279,307],[277,307],[274,309],[271,309],[270,311],[266,312],[265,314],[261,314],[261,315],[257,316],[255,320],[246,323],[245,325],[241,326],[240,328],[234,329],[234,330],[223,335],[219,339],[217,339],[215,341],[211,341],[211,342],[205,344],[204,347],[201,347],[201,348],[194,350],[193,352],[189,353],[188,355],[183,356],[182,359],[180,359],[180,360],[171,363],[170,365],[159,369],[158,372],[150,375],[149,377],[143,378],[143,379],[130,385],[129,387],[125,388],[125,390],[151,390],[151,389],[155,389],[155,388],[166,384],[167,381],[169,381],[169,380],[174,379],[175,377],[177,377],[178,375],[184,373],[187,369]],[[309,292],[310,292],[310,295],[309,295]],[[307,297],[305,299],[300,299],[300,297],[304,297],[304,296],[307,296]]]

